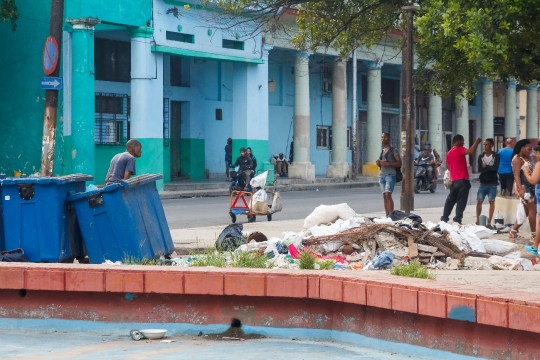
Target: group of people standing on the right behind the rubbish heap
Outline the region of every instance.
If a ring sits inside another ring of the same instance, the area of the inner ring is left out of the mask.
[[[456,214],[453,218],[455,223],[461,224],[463,212],[467,206],[471,182],[469,179],[469,169],[467,166],[467,156],[476,153],[482,140],[476,139],[474,144],[466,149],[464,147],[465,139],[462,135],[455,135],[452,139],[452,149],[446,155],[446,164],[450,173],[451,185],[448,194],[441,221],[448,222],[450,214],[456,207]],[[390,134],[383,133],[381,137],[383,149],[376,164],[380,168],[379,184],[383,193],[384,209],[386,215],[394,211],[394,202],[392,192],[396,184],[396,169],[403,165],[399,152],[390,145]],[[441,165],[440,156],[431,149],[431,144],[426,142],[422,152],[416,152],[419,149],[415,145],[415,161],[425,161],[433,167],[428,174],[431,181],[437,180],[437,167]],[[484,140],[484,151],[478,156],[478,171],[480,172],[480,187],[476,194],[476,224],[480,222],[482,213],[482,204],[485,198],[489,201],[489,214],[486,225],[491,227],[493,213],[495,211],[495,198],[500,183],[501,194],[510,196],[514,193],[520,198],[528,217],[532,232],[533,245],[525,246],[525,249],[533,254],[538,254],[538,245],[540,244],[540,233],[536,234],[537,221],[540,223],[540,205],[538,197],[540,196],[540,145],[533,151],[529,140],[520,140],[515,146],[512,139],[507,139],[505,148],[499,152],[494,151],[495,142],[493,139]],[[536,165],[534,165],[536,163]],[[518,230],[521,224],[516,222],[510,230],[509,237],[518,237]]]

